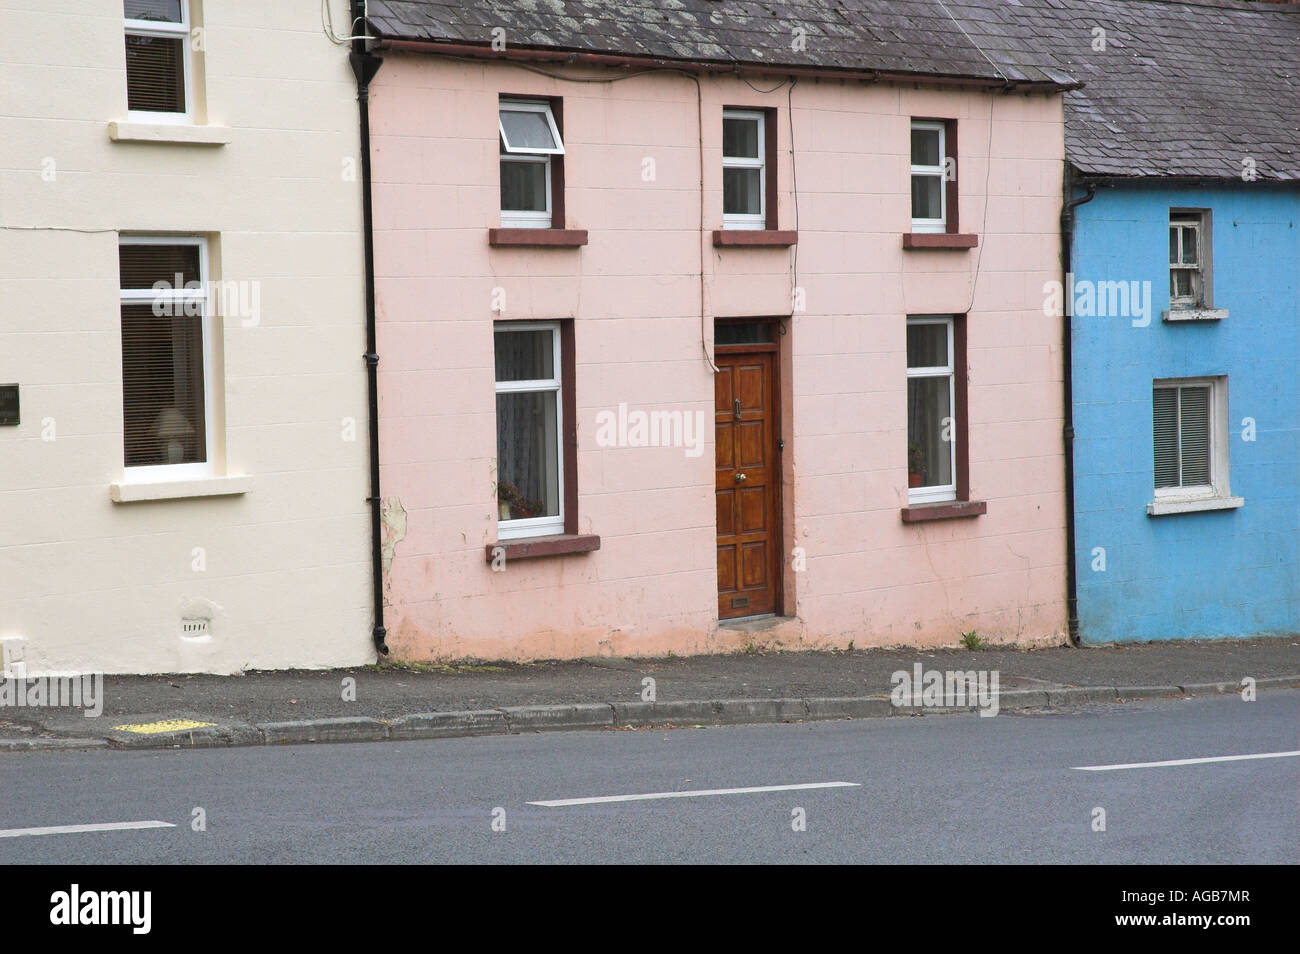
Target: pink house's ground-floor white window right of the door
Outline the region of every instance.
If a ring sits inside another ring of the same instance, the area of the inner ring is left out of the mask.
[[[957,499],[953,318],[907,318],[907,502]]]

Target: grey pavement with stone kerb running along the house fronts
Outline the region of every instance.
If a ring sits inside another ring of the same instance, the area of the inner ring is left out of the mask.
[[[1244,678],[1254,680],[1258,690],[1300,685],[1300,639],[109,676],[104,678],[103,714],[95,719],[75,708],[0,707],[0,753],[909,715],[918,710],[900,708],[889,699],[892,675],[916,665],[941,672],[996,672],[1002,710],[1061,708],[1239,693]]]

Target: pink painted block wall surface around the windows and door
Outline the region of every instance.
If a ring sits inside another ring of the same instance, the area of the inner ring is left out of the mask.
[[[489,247],[499,94],[564,97],[567,226],[588,229],[588,246]],[[763,94],[716,77],[701,81],[701,96],[697,107],[696,83],[680,74],[577,83],[506,64],[386,57],[372,123],[394,655],[688,654],[751,639],[933,646],[971,629],[1060,642],[1061,328],[1041,308],[1060,270],[1060,97],[811,79],[793,95]],[[711,415],[701,337],[711,351],[712,317],[790,313],[794,250],[712,247],[723,105],[780,110],[780,227],[797,224],[807,302],[781,339],[789,617],[757,632],[716,619],[711,426],[696,458],[594,441],[597,415],[619,403]],[[961,123],[961,222],[979,233],[978,250],[901,247],[913,116]],[[905,316],[967,312],[972,285],[971,496],[988,512],[905,525]],[[494,289],[506,290],[502,315]],[[497,539],[498,317],[575,320],[580,530],[601,535],[597,552],[506,572],[485,561]],[[796,546],[807,561],[798,573]]]

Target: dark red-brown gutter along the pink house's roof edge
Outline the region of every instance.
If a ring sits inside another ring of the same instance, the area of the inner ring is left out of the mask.
[[[437,40],[398,40],[381,39],[374,49],[398,53],[441,53],[443,56],[471,57],[481,60],[506,60],[514,62],[560,62],[567,65],[608,66],[630,69],[673,69],[690,73],[731,73],[734,75],[792,75],[818,77],[823,79],[862,79],[870,83],[922,83],[926,86],[1024,90],[1026,92],[1066,92],[1083,88],[1083,83],[1056,83],[1050,81],[1006,81],[984,77],[941,77],[927,73],[885,73],[880,70],[829,69],[818,66],[783,66],[780,64],[707,62],[701,60],[672,60],[667,57],[586,53],[566,49],[536,49],[507,47],[497,51],[490,45],[476,43],[441,43]]]

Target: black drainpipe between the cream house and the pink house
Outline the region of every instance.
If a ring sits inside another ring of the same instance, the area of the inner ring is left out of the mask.
[[[352,0],[352,22],[348,35],[365,23],[365,4]],[[352,73],[356,74],[356,101],[361,117],[361,234],[365,242],[365,376],[370,404],[370,577],[374,587],[374,651],[389,654],[384,628],[384,534],[381,529],[380,496],[380,355],[374,335],[374,217],[370,207],[370,81],[380,71],[384,60],[365,52],[365,40],[352,40],[348,53]]]

